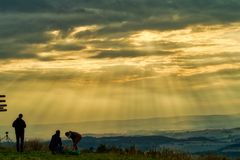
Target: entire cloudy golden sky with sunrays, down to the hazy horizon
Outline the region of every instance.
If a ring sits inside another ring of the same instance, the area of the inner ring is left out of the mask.
[[[1,0],[10,124],[240,113],[239,0]]]

